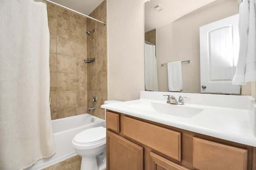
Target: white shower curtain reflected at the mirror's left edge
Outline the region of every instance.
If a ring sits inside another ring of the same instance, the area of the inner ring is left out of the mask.
[[[158,91],[156,46],[145,43],[145,89]]]

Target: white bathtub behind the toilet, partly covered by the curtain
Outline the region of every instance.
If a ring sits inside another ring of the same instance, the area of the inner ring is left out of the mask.
[[[56,153],[50,158],[38,160],[25,170],[40,170],[76,155],[72,146],[73,137],[80,131],[91,127],[105,127],[105,120],[88,113],[52,120]]]

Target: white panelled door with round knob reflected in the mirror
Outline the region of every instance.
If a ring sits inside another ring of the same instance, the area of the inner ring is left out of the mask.
[[[201,93],[240,94],[232,85],[238,52],[238,14],[200,27]]]

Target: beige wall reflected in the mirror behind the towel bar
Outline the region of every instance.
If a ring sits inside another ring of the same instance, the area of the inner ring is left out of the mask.
[[[199,27],[235,14],[238,14],[237,0],[226,0],[156,29],[160,91],[168,91],[167,66],[161,64],[190,60],[191,63],[182,63],[182,92],[200,93]]]

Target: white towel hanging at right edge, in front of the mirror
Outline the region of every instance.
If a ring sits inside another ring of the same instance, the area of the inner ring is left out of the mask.
[[[244,0],[239,9],[240,48],[232,84],[256,81],[256,12],[255,0]]]

